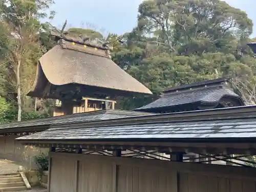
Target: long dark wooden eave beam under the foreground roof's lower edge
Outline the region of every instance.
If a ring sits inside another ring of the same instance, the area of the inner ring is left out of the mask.
[[[29,142],[21,141],[23,145],[34,146],[55,146],[62,148],[84,148],[92,151],[115,151],[115,150],[138,150],[138,151],[155,151],[158,153],[165,153],[168,155],[176,155],[177,153],[195,153],[195,154],[244,154],[256,155],[256,143],[184,143],[184,142],[83,142],[79,141],[54,141],[54,143]],[[101,144],[99,144],[101,143]],[[169,146],[168,146],[169,145]],[[193,146],[193,147],[191,147]]]

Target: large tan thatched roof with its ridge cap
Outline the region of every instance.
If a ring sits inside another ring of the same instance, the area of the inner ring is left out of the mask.
[[[114,63],[109,50],[60,40],[38,62],[34,88],[28,94],[41,97],[47,84],[79,84],[122,92],[152,94],[142,83]],[[49,82],[47,82],[49,81]]]

